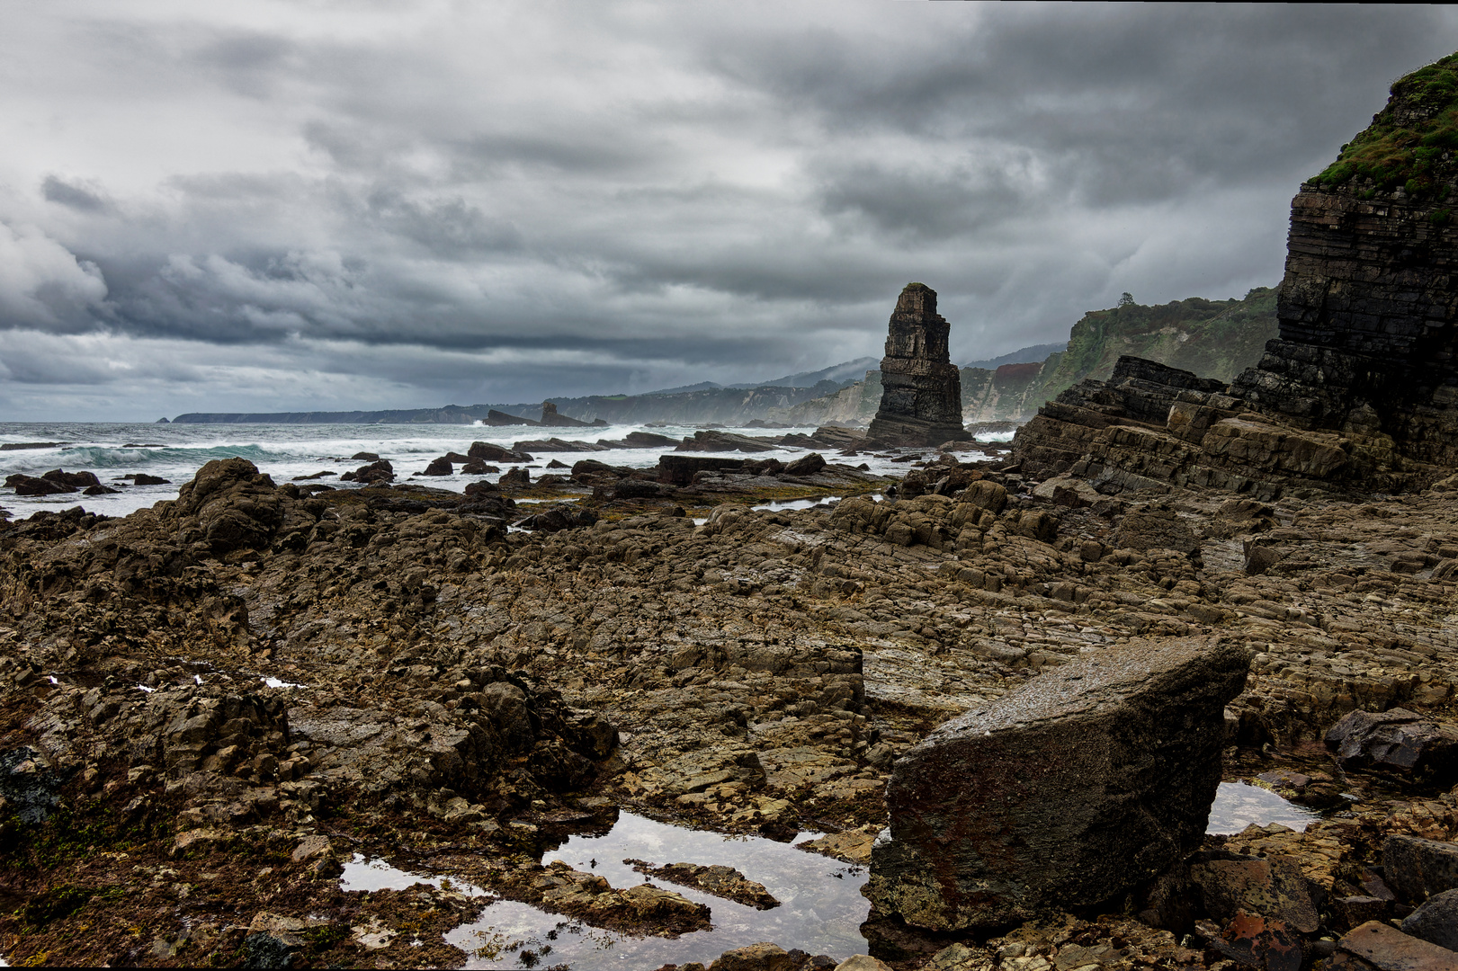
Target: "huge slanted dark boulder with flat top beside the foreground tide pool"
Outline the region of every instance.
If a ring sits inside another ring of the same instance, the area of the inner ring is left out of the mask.
[[[933,930],[1096,905],[1200,846],[1225,704],[1251,655],[1216,637],[1085,655],[948,722],[892,768],[878,911]]]

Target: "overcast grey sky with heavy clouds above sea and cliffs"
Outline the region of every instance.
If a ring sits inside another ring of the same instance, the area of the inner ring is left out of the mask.
[[[1280,280],[1435,7],[0,0],[0,420],[427,407]]]

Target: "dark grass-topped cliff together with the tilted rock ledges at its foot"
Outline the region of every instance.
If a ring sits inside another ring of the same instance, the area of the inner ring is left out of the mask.
[[[1255,491],[1404,490],[1458,465],[1458,61],[1392,86],[1387,108],[1292,201],[1280,337],[1229,388],[1121,359],[1040,410],[1015,453],[1108,491],[1158,483]],[[1187,372],[1178,372],[1187,375]],[[1193,378],[1193,375],[1187,375]]]

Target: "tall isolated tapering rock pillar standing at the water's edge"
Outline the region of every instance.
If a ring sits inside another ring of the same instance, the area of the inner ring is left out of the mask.
[[[965,439],[962,379],[946,347],[951,329],[936,290],[908,283],[897,299],[881,359],[881,408],[869,439],[878,445],[940,445]]]

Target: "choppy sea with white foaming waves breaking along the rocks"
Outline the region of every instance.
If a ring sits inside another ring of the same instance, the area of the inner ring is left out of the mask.
[[[373,452],[389,459],[395,467],[395,481],[414,481],[436,488],[465,491],[467,484],[483,478],[496,481],[500,474],[462,475],[459,467],[455,475],[423,475],[432,459],[446,452],[465,453],[472,442],[491,442],[510,446],[515,442],[560,437],[566,440],[596,442],[598,439],[623,439],[630,432],[653,432],[675,439],[691,437],[703,426],[614,424],[590,429],[560,427],[490,427],[477,424],[108,424],[108,423],[0,423],[0,446],[7,443],[51,442],[39,449],[0,449],[0,481],[7,475],[22,472],[41,475],[60,468],[67,472],[95,472],[104,486],[117,488],[106,496],[16,496],[15,490],[0,487],[0,509],[20,519],[48,509],[61,512],[82,506],[86,512],[105,516],[125,516],[165,499],[176,499],[178,487],[187,483],[204,464],[222,458],[245,458],[267,472],[280,486],[296,477],[315,472],[335,472],[319,481],[337,488],[351,488],[340,483],[337,474],[363,465],[353,456]],[[755,437],[780,437],[795,432],[812,433],[814,426],[787,429],[729,427],[720,429],[736,434]],[[1010,437],[1010,436],[1007,436]],[[608,452],[553,452],[531,449],[532,477],[548,471],[553,459],[566,465],[583,458],[593,458],[609,465],[650,468],[658,465],[658,456],[671,452],[669,446],[652,449],[612,449]],[[776,448],[757,452],[749,458],[777,458],[790,462],[808,449]],[[904,462],[892,462],[885,453],[862,452],[854,458],[840,458],[833,451],[822,449],[830,462],[866,464],[873,472],[905,472]],[[930,455],[932,451],[929,449]],[[707,452],[726,458],[746,458],[744,452]],[[961,453],[964,461],[977,461],[978,452]],[[491,462],[500,465],[499,462]],[[500,465],[504,472],[504,465]],[[554,469],[555,471],[555,469]],[[166,486],[133,486],[120,478],[128,472],[146,472],[168,480]]]

